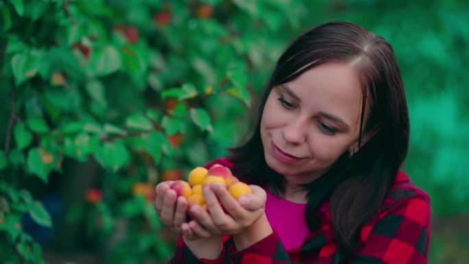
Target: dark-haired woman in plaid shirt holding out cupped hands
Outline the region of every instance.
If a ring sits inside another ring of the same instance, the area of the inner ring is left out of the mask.
[[[181,234],[171,263],[426,263],[429,197],[399,171],[409,117],[383,38],[343,22],[300,36],[252,128],[214,162],[252,195],[234,200],[211,184],[207,212],[188,209],[170,182],[156,187],[160,219]]]

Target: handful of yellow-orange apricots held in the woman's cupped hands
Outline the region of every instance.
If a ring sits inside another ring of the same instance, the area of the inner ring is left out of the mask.
[[[195,167],[189,172],[187,176],[188,182],[184,180],[177,180],[170,186],[171,189],[176,191],[178,196],[186,197],[187,204],[193,206],[199,204],[202,208],[206,209],[204,193],[202,187],[217,182],[228,189],[228,193],[238,199],[241,195],[251,193],[248,184],[240,182],[238,178],[233,176],[231,170],[223,165],[215,164],[209,169],[204,167]]]

